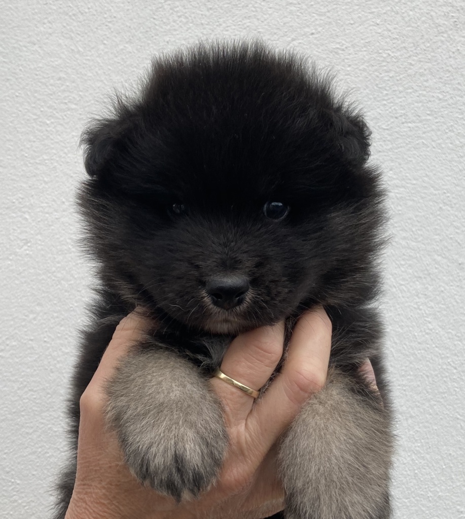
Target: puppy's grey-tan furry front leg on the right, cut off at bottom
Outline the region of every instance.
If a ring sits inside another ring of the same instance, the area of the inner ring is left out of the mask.
[[[333,370],[279,454],[288,519],[387,519],[393,451],[388,411]]]

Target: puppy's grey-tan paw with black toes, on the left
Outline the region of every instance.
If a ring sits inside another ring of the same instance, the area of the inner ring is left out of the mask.
[[[168,351],[139,351],[120,366],[108,394],[108,420],[143,484],[180,501],[215,481],[227,433],[194,365]]]

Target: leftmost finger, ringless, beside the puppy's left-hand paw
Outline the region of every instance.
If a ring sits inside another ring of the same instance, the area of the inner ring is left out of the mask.
[[[105,349],[102,359],[92,380],[86,388],[87,393],[97,393],[94,397],[104,395],[105,384],[111,378],[119,360],[124,357],[150,327],[137,309],[122,319],[116,326],[112,340]]]

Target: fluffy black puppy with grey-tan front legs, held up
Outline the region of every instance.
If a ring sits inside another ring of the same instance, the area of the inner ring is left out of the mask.
[[[232,338],[283,319],[292,327],[322,304],[331,368],[280,444],[284,516],[389,517],[388,405],[358,375],[370,358],[385,396],[369,306],[384,193],[361,115],[298,56],[199,45],[155,60],[139,95],[118,97],[84,143],[79,203],[101,285],[74,379],[74,438],[116,323],[143,306],[162,324],[120,366],[108,419],[141,482],[197,496],[227,446],[208,379]]]

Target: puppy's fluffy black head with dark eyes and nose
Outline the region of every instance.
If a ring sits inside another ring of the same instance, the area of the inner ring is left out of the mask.
[[[88,247],[121,296],[238,333],[375,292],[368,130],[304,60],[257,43],[159,59],[84,143]]]

